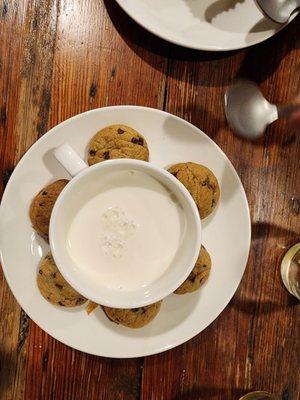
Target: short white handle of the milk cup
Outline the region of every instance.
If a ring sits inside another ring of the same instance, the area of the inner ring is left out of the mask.
[[[57,147],[54,150],[54,157],[72,177],[88,168],[87,163],[79,157],[76,151],[68,143],[64,143]]]

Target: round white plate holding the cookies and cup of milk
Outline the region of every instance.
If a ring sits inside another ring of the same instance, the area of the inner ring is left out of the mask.
[[[195,161],[211,168],[221,187],[215,212],[203,220],[203,243],[212,257],[205,286],[192,294],[171,295],[161,312],[142,329],[110,322],[98,307],[58,308],[40,295],[36,285],[39,261],[49,246],[33,231],[28,209],[47,183],[68,178],[53,149],[69,142],[84,156],[90,138],[110,124],[140,131],[158,166]],[[188,122],[163,111],[117,106],[77,115],[38,140],[17,165],[0,208],[0,249],[7,282],[21,307],[42,329],[75,349],[106,357],[139,357],[175,347],[201,332],[228,304],[240,283],[250,246],[250,217],[243,186],[220,148]]]

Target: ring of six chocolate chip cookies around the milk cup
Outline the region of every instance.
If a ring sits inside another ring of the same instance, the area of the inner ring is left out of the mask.
[[[116,158],[149,161],[146,139],[139,132],[125,125],[111,125],[102,129],[89,143],[88,164],[93,165]],[[193,162],[175,164],[168,171],[191,193],[201,219],[210,215],[220,197],[219,184],[212,171]],[[49,237],[49,223],[55,201],[68,182],[66,179],[53,182],[43,188],[32,200],[29,212],[31,223],[36,232],[45,240]],[[210,269],[210,255],[204,246],[201,246],[195,267],[188,278],[176,289],[175,294],[183,295],[198,290],[207,280]],[[47,254],[40,263],[37,285],[47,301],[60,307],[76,307],[87,301],[63,278],[51,253]],[[161,303],[160,301],[133,309],[102,308],[111,321],[129,328],[141,328],[155,318]],[[96,307],[98,304],[89,302],[88,314]]]

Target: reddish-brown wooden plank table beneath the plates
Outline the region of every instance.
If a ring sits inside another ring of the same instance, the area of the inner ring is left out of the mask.
[[[1,399],[234,400],[263,389],[296,400],[297,302],[279,263],[299,241],[300,136],[284,122],[255,144],[233,136],[223,97],[238,76],[272,102],[291,100],[300,91],[299,25],[300,17],[265,43],[214,54],[155,38],[113,0],[0,0],[1,193],[49,128],[92,108],[136,104],[213,138],[243,181],[253,224],[246,273],[225,311],[184,345],[146,358],[94,357],[57,342],[20,309],[1,272]]]

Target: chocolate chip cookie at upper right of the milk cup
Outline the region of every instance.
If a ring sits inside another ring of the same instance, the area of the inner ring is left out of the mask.
[[[175,164],[168,171],[191,193],[200,217],[207,217],[220,198],[219,184],[212,171],[193,162]]]

